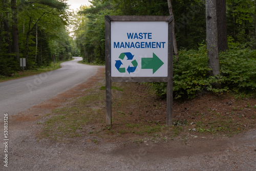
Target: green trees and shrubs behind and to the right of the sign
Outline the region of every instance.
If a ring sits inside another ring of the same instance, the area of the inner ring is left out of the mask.
[[[75,32],[77,46],[87,62],[104,63],[104,15],[168,15],[165,0],[91,2],[90,7],[78,12]],[[205,4],[202,1],[173,1],[172,4],[180,48],[179,61],[174,62],[175,97],[193,98],[202,90],[214,93],[254,90],[255,67],[251,66],[255,63],[255,51],[251,50],[255,48],[252,31],[254,2],[227,1],[227,29],[233,36],[228,37],[229,50],[220,54],[221,74],[217,76],[209,76],[207,66]],[[202,41],[202,44],[198,43]],[[166,83],[151,84],[159,95],[166,94]]]

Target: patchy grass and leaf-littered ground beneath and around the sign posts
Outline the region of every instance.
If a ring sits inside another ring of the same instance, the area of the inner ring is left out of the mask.
[[[181,117],[174,111],[173,126],[166,126],[166,99],[158,98],[145,84],[113,82],[112,126],[109,126],[105,124],[104,90],[104,83],[98,82],[85,90],[83,96],[47,115],[39,137],[57,141],[87,137],[93,142],[95,137],[137,143],[175,138],[186,141],[188,136],[233,136],[256,125],[256,102],[241,107],[241,103],[246,103],[241,99],[224,111],[204,106]],[[175,108],[182,108],[177,104]]]

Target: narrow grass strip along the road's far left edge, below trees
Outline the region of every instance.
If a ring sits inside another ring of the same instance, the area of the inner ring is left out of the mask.
[[[36,70],[19,71],[11,77],[0,76],[0,82],[11,80],[11,79],[22,78],[22,77],[26,77],[26,76],[31,76],[31,75],[36,75],[36,74],[41,74],[41,73],[45,73],[45,72],[52,71],[52,70],[57,70],[57,69],[61,68],[60,63],[62,63],[62,62],[64,62],[64,61],[55,62],[55,67],[54,67],[54,63],[52,62],[50,66],[45,67],[45,68],[38,68]]]

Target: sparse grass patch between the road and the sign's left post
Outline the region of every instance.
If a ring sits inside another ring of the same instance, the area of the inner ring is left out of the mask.
[[[47,115],[39,137],[61,141],[87,134],[97,135],[96,127],[89,125],[104,122],[104,93],[96,91],[96,88],[88,89],[85,93],[86,96],[73,100],[73,105],[54,110],[51,115]]]

